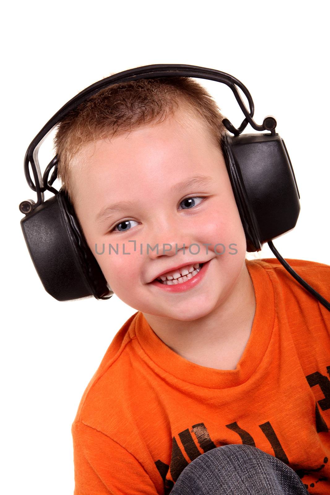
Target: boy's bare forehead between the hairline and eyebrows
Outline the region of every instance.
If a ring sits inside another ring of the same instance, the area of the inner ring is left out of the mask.
[[[179,108],[162,122],[86,145],[83,172],[74,172],[78,201],[91,194],[97,202],[114,195],[140,193],[147,185],[171,187],[192,175],[210,175],[222,153],[201,118]],[[150,194],[150,191],[148,191]]]

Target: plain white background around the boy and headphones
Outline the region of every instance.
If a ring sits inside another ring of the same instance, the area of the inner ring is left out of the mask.
[[[29,143],[69,99],[129,68],[182,63],[234,75],[255,121],[277,118],[295,172],[296,228],[284,258],[330,264],[329,41],[324,2],[22,2],[2,7],[2,445],[6,495],[73,494],[71,424],[114,335],[136,309],[118,297],[58,302],[44,290],[20,228]],[[7,2],[8,5],[8,2]],[[236,125],[236,100],[198,80]],[[256,132],[248,126],[244,132]],[[44,171],[51,139],[41,149]],[[56,185],[56,184],[55,184]],[[46,198],[50,195],[46,195]],[[274,257],[264,246],[261,257]]]

